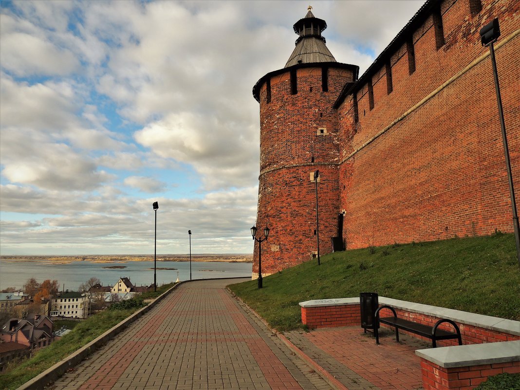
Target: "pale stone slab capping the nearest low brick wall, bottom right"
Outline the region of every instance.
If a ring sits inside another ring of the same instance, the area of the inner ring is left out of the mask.
[[[418,349],[415,354],[444,368],[520,361],[520,340]]]

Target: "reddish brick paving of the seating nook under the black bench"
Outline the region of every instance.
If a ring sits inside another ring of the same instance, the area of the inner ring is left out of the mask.
[[[380,345],[360,327],[287,332],[285,336],[349,390],[422,389],[421,361],[416,349],[425,341],[381,328]]]

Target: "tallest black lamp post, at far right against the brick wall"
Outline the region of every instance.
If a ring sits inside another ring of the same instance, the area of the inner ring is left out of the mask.
[[[518,267],[520,267],[520,226],[518,225],[518,214],[516,213],[515,190],[513,187],[513,175],[511,173],[511,162],[509,160],[508,138],[505,134],[504,113],[502,111],[502,99],[500,97],[500,85],[498,84],[497,61],[495,60],[495,48],[493,43],[497,42],[500,36],[500,25],[498,19],[493,19],[480,29],[480,41],[482,46],[489,46],[491,55],[491,65],[493,67],[493,76],[495,77],[495,92],[497,94],[498,115],[500,117],[500,129],[502,131],[502,144],[504,146],[505,167],[508,171],[509,192],[511,196],[511,207],[513,209],[513,228],[516,241],[516,257],[518,258]]]

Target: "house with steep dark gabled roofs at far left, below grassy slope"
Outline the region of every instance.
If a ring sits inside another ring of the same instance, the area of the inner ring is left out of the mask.
[[[49,345],[52,341],[53,321],[41,314],[29,314],[26,319],[10,318],[2,329],[3,342],[15,342],[31,350]]]

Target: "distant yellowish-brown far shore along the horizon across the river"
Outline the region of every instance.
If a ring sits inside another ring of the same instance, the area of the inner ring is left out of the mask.
[[[50,264],[68,264],[72,262],[126,263],[153,261],[153,255],[79,255],[79,256],[2,256],[1,261],[49,262]],[[189,262],[190,255],[158,255],[158,262]],[[252,263],[252,254],[199,254],[191,255],[193,262]]]

